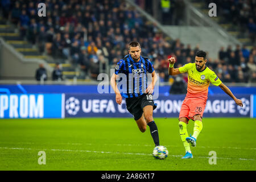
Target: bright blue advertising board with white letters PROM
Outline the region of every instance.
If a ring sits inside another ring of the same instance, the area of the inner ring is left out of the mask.
[[[61,118],[61,94],[0,94],[0,118]]]

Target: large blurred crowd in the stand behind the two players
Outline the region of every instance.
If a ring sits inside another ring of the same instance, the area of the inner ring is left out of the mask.
[[[127,55],[132,40],[141,44],[142,55],[152,61],[161,82],[171,78],[168,56],[175,56],[175,67],[180,67],[194,62],[200,49],[166,38],[124,1],[46,0],[44,18],[37,15],[37,5],[42,1],[0,1],[5,18],[18,24],[20,34],[29,42],[42,53],[68,59],[92,79],[97,79],[100,62],[114,68]],[[207,59],[208,67],[223,82],[256,82],[256,47],[222,47],[218,59]]]

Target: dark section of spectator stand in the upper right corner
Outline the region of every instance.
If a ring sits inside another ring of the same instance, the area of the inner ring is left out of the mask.
[[[235,36],[241,43],[252,48],[256,43],[256,24],[253,7],[256,6],[254,1],[203,1],[193,0],[193,5],[201,9],[208,15],[209,3],[216,3],[217,17],[216,20],[229,34]]]

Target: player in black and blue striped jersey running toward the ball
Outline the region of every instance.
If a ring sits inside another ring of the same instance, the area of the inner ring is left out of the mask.
[[[123,75],[120,76],[121,74]],[[151,76],[150,84],[147,84],[147,74]],[[122,82],[125,82],[121,92],[115,82],[119,76],[122,77]],[[117,104],[121,105],[122,98],[125,98],[126,108],[133,114],[139,130],[144,133],[148,125],[155,146],[159,146],[158,127],[153,119],[153,110],[156,105],[152,100],[156,80],[153,65],[148,58],[141,56],[140,44],[133,41],[129,44],[129,55],[117,63],[110,84],[115,92]]]

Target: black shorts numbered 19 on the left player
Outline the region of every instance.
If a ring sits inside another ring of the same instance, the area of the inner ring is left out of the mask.
[[[126,108],[129,113],[133,114],[135,121],[141,118],[143,114],[143,107],[148,105],[154,107],[154,101],[152,100],[151,94],[142,94],[139,97],[126,98]]]

